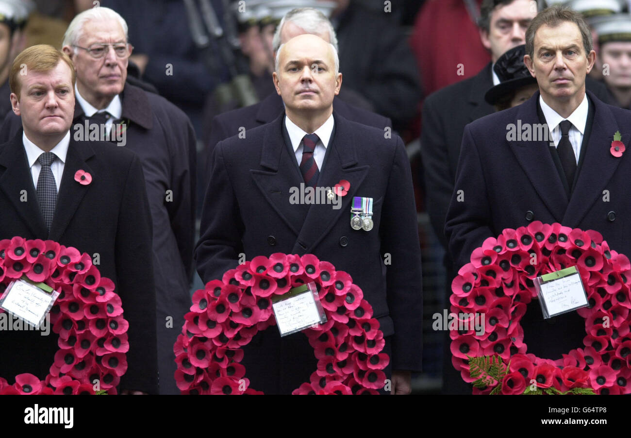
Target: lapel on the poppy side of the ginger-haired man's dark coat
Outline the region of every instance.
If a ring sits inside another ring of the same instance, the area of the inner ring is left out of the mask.
[[[85,170],[92,178],[98,178],[93,169],[88,166],[86,160],[94,155],[94,151],[87,142],[77,142],[70,138],[64,173],[61,177],[59,194],[57,194],[57,208],[50,225],[49,239],[59,240],[68,228],[71,218],[74,216],[81,199],[90,189],[90,184],[83,185],[74,181],[77,170]]]

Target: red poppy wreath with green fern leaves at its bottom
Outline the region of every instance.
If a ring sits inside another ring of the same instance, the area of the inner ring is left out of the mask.
[[[589,301],[577,310],[585,319],[584,348],[557,360],[536,357],[527,353],[520,324],[537,297],[533,279],[570,266],[577,267]],[[452,364],[466,382],[476,381],[470,358],[499,356],[507,364],[502,379],[473,388],[474,394],[584,393],[578,388],[628,394],[630,281],[628,257],[610,249],[599,232],[538,221],[506,228],[476,248],[452,281],[451,311],[459,320],[450,333]],[[474,314],[485,315],[481,335],[473,330]]]

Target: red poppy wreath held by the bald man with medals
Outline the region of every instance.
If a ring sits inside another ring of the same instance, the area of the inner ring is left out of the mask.
[[[292,394],[377,394],[389,357],[379,321],[348,273],[312,254],[257,256],[192,296],[174,345],[182,394],[262,394],[249,388],[242,347],[276,325],[271,298],[313,281],[327,322],[302,332],[317,358],[310,381]]]

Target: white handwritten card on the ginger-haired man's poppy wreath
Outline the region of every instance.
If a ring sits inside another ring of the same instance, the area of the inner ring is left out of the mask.
[[[25,281],[18,280],[13,283],[0,307],[27,323],[38,326],[55,298]]]

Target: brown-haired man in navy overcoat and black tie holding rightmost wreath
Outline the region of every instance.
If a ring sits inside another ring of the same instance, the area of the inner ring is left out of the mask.
[[[629,144],[631,114],[586,91],[596,57],[591,47],[581,15],[558,6],[541,12],[526,32],[524,56],[540,92],[465,127],[455,185],[463,198],[452,197],[445,226],[456,267],[488,237],[533,220],[596,230],[612,250],[630,254],[631,157],[610,150],[616,131]],[[509,140],[507,130],[517,121],[546,124],[552,141]],[[537,307],[533,300],[522,318],[529,353],[555,360],[583,345],[585,324],[577,312],[543,320]]]

